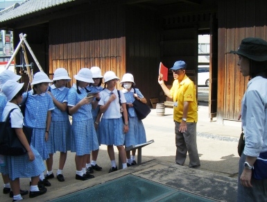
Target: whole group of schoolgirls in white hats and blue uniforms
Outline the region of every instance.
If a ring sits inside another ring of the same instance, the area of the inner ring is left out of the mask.
[[[28,194],[28,190],[20,190],[19,178],[31,178],[30,198],[45,194],[46,186],[51,186],[48,179],[54,178],[53,153],[56,151],[60,152],[56,173],[60,182],[64,181],[62,170],[67,151],[76,152],[77,180],[94,178],[94,170],[102,170],[96,163],[101,144],[107,145],[111,161],[109,172],[117,171],[113,146],[117,146],[123,169],[137,164],[136,150],[130,156],[124,146],[146,142],[144,125],[132,105],[135,100],[146,103],[146,99],[134,88],[132,74],[123,75],[120,82],[123,90],[117,90],[119,78],[113,71],[101,76],[99,67],[80,69],[70,89],[66,85],[71,78],[64,68],[55,70],[53,85],[44,72],[37,72],[31,83],[32,90],[28,92],[24,92],[24,83],[17,82],[20,78],[10,70],[0,74],[0,118],[6,121],[10,110],[15,108],[10,113],[10,123],[27,151],[19,156],[0,155],[0,160],[5,162],[0,166],[3,194],[9,193],[13,201],[22,200],[21,196]],[[94,99],[87,96],[89,92],[96,92]],[[19,104],[26,106],[24,117]],[[31,144],[22,131],[23,125],[33,128]]]

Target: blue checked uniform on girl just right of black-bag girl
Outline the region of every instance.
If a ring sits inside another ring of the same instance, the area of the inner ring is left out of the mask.
[[[27,92],[23,94],[25,101]],[[47,145],[45,142],[46,117],[49,110],[55,109],[52,97],[47,93],[33,94],[33,90],[28,93],[26,101],[24,123],[33,128],[31,144],[37,149],[43,160],[49,158]]]

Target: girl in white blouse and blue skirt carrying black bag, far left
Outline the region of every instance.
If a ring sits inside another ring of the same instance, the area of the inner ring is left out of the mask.
[[[19,178],[31,177],[30,198],[46,193],[46,187],[40,189],[37,187],[39,175],[45,170],[44,162],[33,145],[30,146],[28,144],[26,136],[22,130],[24,117],[17,105],[21,103],[22,100],[22,93],[24,91],[23,85],[24,83],[17,83],[12,80],[8,80],[3,85],[3,93],[6,95],[8,103],[3,110],[2,121],[9,119],[8,115],[10,110],[15,109],[10,113],[10,124],[11,127],[15,129],[17,137],[27,151],[25,155],[6,155],[6,169],[8,170],[8,176],[10,178],[13,201],[21,201],[23,199],[19,189]]]

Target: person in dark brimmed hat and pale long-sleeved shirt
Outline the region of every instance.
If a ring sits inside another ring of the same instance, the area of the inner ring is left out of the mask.
[[[267,42],[248,37],[230,53],[239,56],[241,74],[250,77],[241,107],[245,147],[239,160],[237,201],[267,201]]]

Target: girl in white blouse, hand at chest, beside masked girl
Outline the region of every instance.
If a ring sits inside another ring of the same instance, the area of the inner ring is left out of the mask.
[[[116,89],[119,78],[113,71],[104,74],[105,88],[100,92],[99,101],[100,111],[103,113],[100,124],[99,134],[101,144],[107,145],[107,153],[110,156],[111,168],[109,172],[117,171],[113,145],[117,146],[119,157],[121,158],[123,169],[127,168],[126,151],[124,149],[125,133],[128,132],[128,114],[126,110],[126,99],[121,91]],[[121,106],[119,103],[119,97]],[[123,111],[124,122],[121,118]]]

